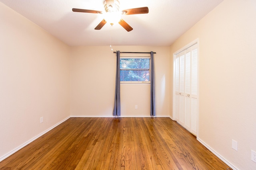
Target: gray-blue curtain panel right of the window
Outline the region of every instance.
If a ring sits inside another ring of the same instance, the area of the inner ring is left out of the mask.
[[[154,66],[154,52],[150,52],[151,68],[150,68],[150,115],[156,115],[156,102],[155,102],[155,66]]]

